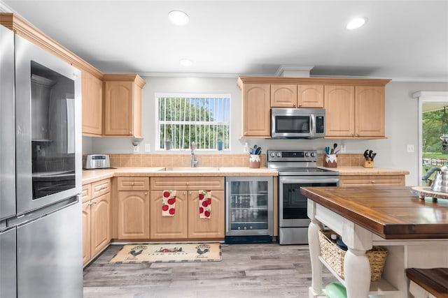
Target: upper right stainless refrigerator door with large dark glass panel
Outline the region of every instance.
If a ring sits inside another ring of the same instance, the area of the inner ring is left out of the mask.
[[[80,70],[15,36],[17,214],[81,192]]]

